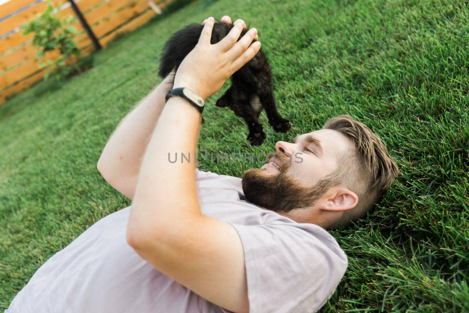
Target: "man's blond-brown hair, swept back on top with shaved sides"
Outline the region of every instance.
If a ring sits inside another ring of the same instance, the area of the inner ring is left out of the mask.
[[[349,115],[327,120],[323,129],[337,130],[355,146],[354,151],[339,156],[340,165],[334,172],[337,180],[358,196],[357,206],[345,211],[333,225],[345,226],[374,209],[399,169],[383,141],[365,124]]]

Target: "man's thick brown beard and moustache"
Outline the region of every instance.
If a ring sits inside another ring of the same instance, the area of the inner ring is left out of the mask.
[[[275,157],[282,160],[280,153]],[[287,213],[314,205],[325,192],[338,184],[335,176],[330,175],[314,186],[303,187],[288,175],[290,163],[284,162],[278,175],[267,174],[261,168],[251,168],[244,172],[242,191],[248,201],[272,211]]]

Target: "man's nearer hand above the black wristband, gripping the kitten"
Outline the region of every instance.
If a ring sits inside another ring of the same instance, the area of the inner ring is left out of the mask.
[[[184,58],[174,77],[174,88],[187,87],[204,99],[218,92],[234,72],[256,55],[261,46],[258,41],[252,43],[257,38],[255,28],[237,41],[246,25],[242,20],[234,22],[228,35],[211,45],[214,23],[213,17],[204,21],[197,46]]]

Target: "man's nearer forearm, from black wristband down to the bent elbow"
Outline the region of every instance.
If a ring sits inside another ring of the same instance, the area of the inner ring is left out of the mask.
[[[194,172],[199,121],[200,113],[187,100],[168,100],[144,154],[132,201],[128,227],[135,233],[157,233],[200,215]],[[188,155],[190,161],[169,162],[168,153],[174,152]]]

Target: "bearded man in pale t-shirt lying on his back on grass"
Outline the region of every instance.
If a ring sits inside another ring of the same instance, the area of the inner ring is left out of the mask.
[[[230,22],[228,17],[222,20]],[[213,18],[174,76],[202,99],[258,51],[244,22],[211,45]],[[132,205],[96,222],[32,276],[7,312],[313,312],[347,257],[327,228],[369,212],[397,175],[382,141],[347,115],[278,142],[242,179],[202,172],[201,113],[167,77],[109,139],[98,169]],[[285,156],[302,161],[286,162]]]

